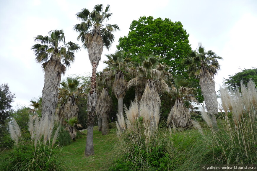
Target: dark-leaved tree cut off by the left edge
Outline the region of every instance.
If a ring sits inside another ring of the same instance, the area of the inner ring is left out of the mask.
[[[9,85],[7,83],[0,85],[0,124],[4,124],[4,120],[8,118],[13,98],[15,94],[9,90]]]

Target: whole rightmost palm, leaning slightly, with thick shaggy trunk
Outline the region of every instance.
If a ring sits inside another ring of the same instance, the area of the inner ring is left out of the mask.
[[[215,91],[214,75],[220,69],[217,59],[222,59],[222,57],[217,56],[212,50],[206,52],[205,48],[199,43],[197,51],[194,50],[189,53],[188,57],[183,61],[184,64],[188,65],[189,75],[199,78],[208,114],[211,116],[212,122],[216,127],[218,101]]]

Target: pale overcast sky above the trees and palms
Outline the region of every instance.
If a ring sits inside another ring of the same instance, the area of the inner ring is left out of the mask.
[[[83,8],[92,11],[96,4],[110,4],[113,13],[109,24],[118,24],[121,31],[114,32],[115,42],[105,54],[113,53],[119,37],[127,36],[133,20],[141,16],[161,17],[180,21],[189,33],[193,50],[201,42],[206,50],[223,57],[221,70],[215,77],[216,89],[223,78],[241,69],[256,66],[257,1],[256,0],[158,0],[158,1],[88,1],[88,0],[0,0],[0,84],[8,83],[16,98],[13,108],[30,105],[30,100],[41,96],[44,73],[41,64],[35,63],[30,50],[37,35],[48,35],[63,29],[66,41],[77,41],[73,26],[80,23],[76,13]],[[77,52],[75,62],[62,79],[71,74],[91,73],[87,51]],[[100,63],[98,70],[105,67]]]

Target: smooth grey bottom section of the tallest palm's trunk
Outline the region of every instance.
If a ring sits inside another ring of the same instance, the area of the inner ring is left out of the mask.
[[[85,149],[85,156],[90,156],[95,154],[94,146],[93,146],[93,123],[87,124],[87,141],[86,141],[86,149]]]

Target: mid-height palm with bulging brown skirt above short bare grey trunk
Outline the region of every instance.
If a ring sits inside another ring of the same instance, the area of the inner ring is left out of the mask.
[[[115,80],[113,82],[112,90],[115,97],[118,99],[118,115],[123,116],[123,98],[126,95],[128,82],[124,79],[124,73],[128,70],[128,62],[130,59],[124,56],[123,51],[117,51],[114,54],[105,55],[108,60],[103,63],[108,65],[104,72],[113,75]]]

